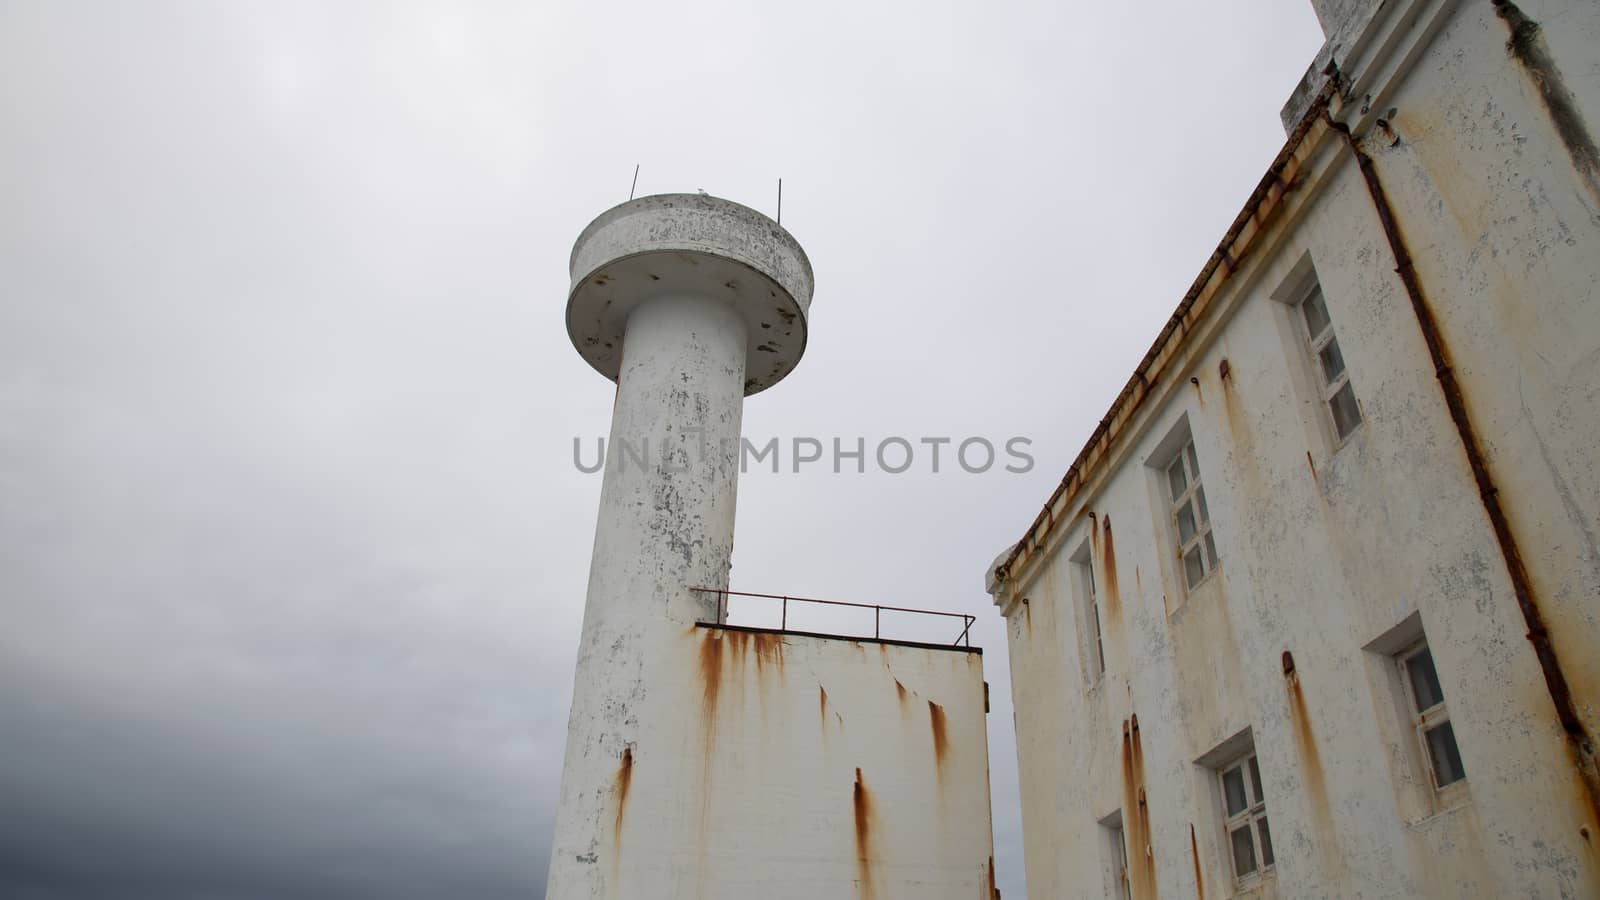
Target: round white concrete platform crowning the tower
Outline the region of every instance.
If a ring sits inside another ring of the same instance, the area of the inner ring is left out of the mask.
[[[811,261],[765,215],[706,194],[656,194],[600,213],[573,245],[566,333],[611,381],[627,317],[667,295],[715,298],[746,322],[744,394],[782,381],[800,362],[811,307]]]

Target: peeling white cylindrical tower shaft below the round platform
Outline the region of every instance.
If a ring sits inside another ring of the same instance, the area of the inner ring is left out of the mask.
[[[690,588],[725,588],[733,556],[744,320],[726,303],[667,295],[627,317],[624,341],[566,725],[552,898],[605,895],[595,882],[614,878],[582,860],[595,855],[597,838],[614,838],[605,788],[650,701],[646,673],[658,668],[650,663],[662,631],[715,621],[715,594]]]

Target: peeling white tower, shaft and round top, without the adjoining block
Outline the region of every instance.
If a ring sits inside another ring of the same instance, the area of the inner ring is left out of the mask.
[[[635,767],[648,793],[640,746],[648,722],[691,714],[682,705],[694,673],[683,634],[715,618],[710,594],[691,588],[728,585],[744,394],[782,376],[766,370],[752,386],[747,362],[798,360],[811,287],[803,253],[776,223],[698,195],[645,197],[602,215],[578,240],[573,279],[573,343],[618,380],[618,391],[550,854],[552,900],[621,897],[614,873],[597,863],[602,855],[614,863],[608,849],[622,822],[613,799],[626,796]],[[797,311],[787,323],[797,343],[784,344],[786,354],[752,349],[750,322],[778,301]],[[698,748],[653,745],[648,753],[698,756]]]

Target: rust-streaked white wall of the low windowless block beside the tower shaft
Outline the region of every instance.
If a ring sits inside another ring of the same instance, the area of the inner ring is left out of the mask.
[[[595,897],[987,900],[982,657],[686,628],[610,761]]]

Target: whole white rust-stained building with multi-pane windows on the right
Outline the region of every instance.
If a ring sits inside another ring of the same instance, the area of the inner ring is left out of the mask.
[[[1035,898],[1600,895],[1600,5],[1315,5],[987,572]]]

